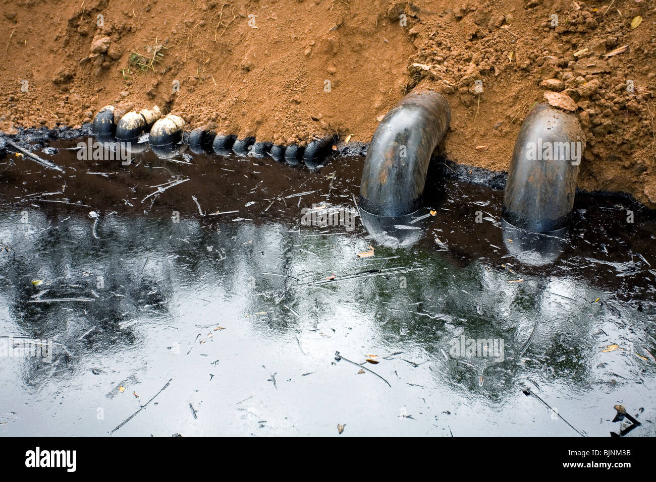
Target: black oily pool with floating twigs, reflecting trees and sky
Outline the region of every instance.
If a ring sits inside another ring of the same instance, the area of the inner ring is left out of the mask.
[[[656,434],[647,213],[582,198],[558,243],[527,245],[500,191],[450,181],[408,219],[306,226],[355,209],[361,159],[121,167],[68,146],[63,176],[0,174],[0,336],[54,342],[52,363],[0,359],[0,433],[107,434],[173,378],[118,435],[577,435],[527,386],[588,435],[618,401]]]

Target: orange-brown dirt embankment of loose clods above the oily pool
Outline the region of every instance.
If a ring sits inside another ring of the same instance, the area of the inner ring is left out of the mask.
[[[368,142],[429,87],[453,110],[446,155],[503,171],[554,90],[588,138],[579,186],[656,207],[654,0],[0,1],[5,132],[157,104],[189,129]]]

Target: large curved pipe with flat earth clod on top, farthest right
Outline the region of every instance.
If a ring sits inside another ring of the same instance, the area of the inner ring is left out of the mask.
[[[503,218],[537,233],[567,225],[585,138],[575,114],[538,104],[522,123],[503,197]]]

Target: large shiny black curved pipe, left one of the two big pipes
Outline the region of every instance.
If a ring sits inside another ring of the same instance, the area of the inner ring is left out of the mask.
[[[377,216],[417,211],[430,158],[449,121],[449,104],[438,92],[411,92],[401,99],[380,121],[369,144],[360,208]]]

